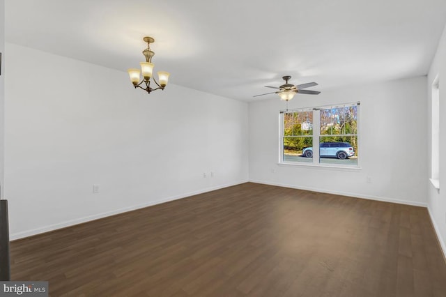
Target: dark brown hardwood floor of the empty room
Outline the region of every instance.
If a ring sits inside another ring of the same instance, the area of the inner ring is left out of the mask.
[[[51,296],[446,296],[426,208],[245,183],[11,243]]]

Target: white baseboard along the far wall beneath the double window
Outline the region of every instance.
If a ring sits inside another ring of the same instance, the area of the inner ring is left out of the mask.
[[[407,204],[412,206],[421,206],[421,207],[427,207],[426,203],[422,202],[415,202],[415,201],[408,201],[408,200],[400,200],[400,199],[393,199],[393,198],[387,198],[387,197],[378,197],[378,196],[371,196],[371,195],[361,195],[357,193],[350,193],[350,192],[339,192],[339,191],[332,191],[332,190],[324,190],[319,188],[311,188],[311,187],[302,187],[299,185],[287,185],[284,183],[270,183],[265,181],[255,181],[255,180],[249,180],[251,183],[263,183],[264,185],[277,185],[278,187],[284,187],[284,188],[292,188],[292,189],[298,189],[298,190],[307,190],[312,192],[321,192],[321,193],[327,193],[327,194],[334,194],[334,195],[341,195],[341,196],[348,196],[348,197],[355,197],[355,198],[361,198],[361,199],[369,199],[369,200],[377,200],[377,201],[384,201],[384,202],[392,202],[397,204]]]

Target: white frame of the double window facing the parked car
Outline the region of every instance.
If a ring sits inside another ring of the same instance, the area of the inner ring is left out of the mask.
[[[321,137],[321,109],[337,108],[337,107],[348,107],[352,105],[357,105],[357,147],[358,151],[360,148],[360,102],[349,102],[337,105],[324,105],[318,107],[305,107],[299,109],[286,109],[279,112],[279,161],[278,165],[285,166],[303,166],[303,167],[323,167],[323,168],[334,168],[334,169],[360,169],[360,158],[357,159],[356,165],[343,165],[343,164],[332,164],[332,163],[321,163],[319,158],[319,139]],[[284,114],[286,112],[307,112],[309,110],[313,111],[313,162],[290,162],[284,161]],[[331,135],[322,135],[328,136]],[[338,136],[338,135],[333,135]]]

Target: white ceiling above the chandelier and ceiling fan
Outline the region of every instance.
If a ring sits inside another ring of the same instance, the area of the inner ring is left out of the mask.
[[[153,36],[170,83],[247,101],[425,75],[446,22],[445,0],[5,2],[9,43],[126,71]]]

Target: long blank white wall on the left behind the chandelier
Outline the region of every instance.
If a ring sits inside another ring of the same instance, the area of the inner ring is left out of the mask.
[[[6,50],[11,239],[247,181],[247,103],[174,84],[148,95],[124,72]]]

